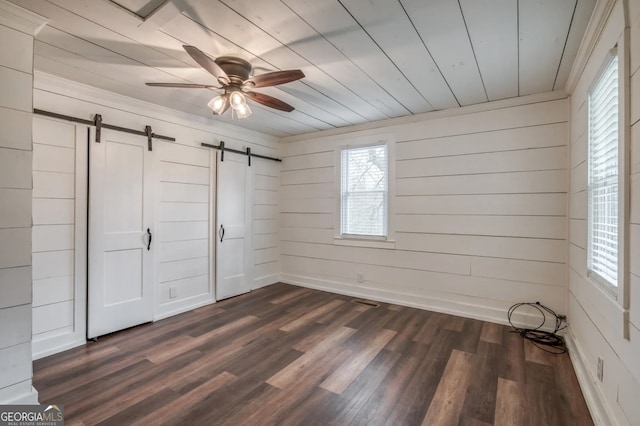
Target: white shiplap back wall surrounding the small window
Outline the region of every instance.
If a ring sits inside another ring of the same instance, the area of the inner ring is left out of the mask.
[[[560,97],[285,139],[284,281],[498,322],[521,301],[565,313],[568,117]],[[335,245],[334,150],[378,134],[395,139],[395,248]]]

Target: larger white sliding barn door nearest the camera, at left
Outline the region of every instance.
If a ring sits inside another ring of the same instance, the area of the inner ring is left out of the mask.
[[[126,133],[89,141],[89,338],[153,320],[154,154]]]

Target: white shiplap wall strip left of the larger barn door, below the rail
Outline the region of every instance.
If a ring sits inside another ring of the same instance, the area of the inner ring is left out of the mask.
[[[84,265],[77,262],[86,238],[86,167],[79,167],[76,176],[76,146],[86,159],[86,145],[86,128],[83,132],[68,122],[34,117],[34,357],[72,347],[85,337],[85,309],[75,301],[86,294]],[[78,179],[85,183],[76,185]],[[76,199],[81,203],[78,212]]]

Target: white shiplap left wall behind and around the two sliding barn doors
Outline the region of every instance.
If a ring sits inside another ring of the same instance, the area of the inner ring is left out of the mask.
[[[277,156],[277,139],[235,126],[223,126],[186,113],[142,103],[68,80],[36,73],[34,103],[36,108],[90,119],[102,114],[109,124],[144,129],[151,125],[154,133],[172,136],[175,142],[154,141],[158,152],[159,180],[156,182],[156,223],[154,244],[158,250],[154,270],[156,289],[155,318],[175,315],[214,300],[214,279],[210,262],[214,259],[210,243],[210,221],[215,220],[215,152],[202,148],[201,142],[217,144],[224,140],[236,149],[251,147],[252,152]],[[206,106],[203,106],[206,107]],[[68,123],[39,118],[38,123],[56,123],[63,129]],[[74,127],[74,126],[70,126]],[[61,130],[59,131],[61,132]],[[59,133],[58,132],[58,133]],[[86,130],[84,131],[86,134]],[[38,132],[36,132],[37,134]],[[54,137],[51,130],[38,136],[34,171],[34,264],[43,265],[42,273],[34,270],[34,356],[59,351],[56,337],[68,340],[67,346],[82,344],[84,333],[72,335],[73,317],[82,314],[84,298],[77,292],[70,298],[69,282],[73,280],[75,219],[86,211],[74,202],[74,185],[86,185],[85,156],[74,154],[73,140]],[[70,133],[71,134],[71,133]],[[77,136],[76,136],[77,137]],[[65,140],[66,142],[64,142]],[[82,141],[86,144],[86,137]],[[75,155],[75,164],[74,164]],[[256,174],[253,209],[256,220],[254,238],[255,266],[252,288],[278,281],[280,261],[277,233],[279,164],[265,164],[254,159]],[[74,175],[75,166],[75,175]],[[79,173],[84,170],[85,174]],[[79,181],[85,179],[84,181]],[[89,195],[91,190],[89,188]],[[76,203],[78,204],[78,203]],[[274,245],[275,241],[275,245]],[[77,242],[77,241],[76,241]],[[274,255],[275,253],[275,255]],[[42,262],[40,261],[42,258]],[[77,261],[75,268],[77,268]],[[60,293],[52,294],[58,286]],[[174,297],[171,297],[173,288]],[[80,315],[82,317],[82,315]],[[76,321],[78,322],[78,321]],[[75,336],[75,340],[74,337]],[[47,339],[51,337],[51,339]],[[41,344],[40,344],[41,342]]]

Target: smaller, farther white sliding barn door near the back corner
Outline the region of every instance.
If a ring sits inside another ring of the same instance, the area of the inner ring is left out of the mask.
[[[245,156],[227,153],[224,161],[218,161],[218,223],[215,234],[217,300],[251,290],[252,175]]]

